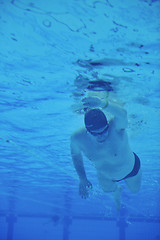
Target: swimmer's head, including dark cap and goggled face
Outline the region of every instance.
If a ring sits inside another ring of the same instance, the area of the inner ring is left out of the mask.
[[[102,135],[108,130],[108,121],[100,109],[91,109],[86,112],[84,118],[86,129],[93,136]]]

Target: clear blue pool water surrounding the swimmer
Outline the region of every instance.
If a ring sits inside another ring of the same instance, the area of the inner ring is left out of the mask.
[[[160,239],[160,1],[0,0],[0,240]],[[128,113],[141,190],[122,209],[70,155],[83,102],[106,94]]]

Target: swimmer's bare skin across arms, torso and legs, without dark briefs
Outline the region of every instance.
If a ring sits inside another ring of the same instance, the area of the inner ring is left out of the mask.
[[[71,155],[80,178],[81,197],[87,198],[88,188],[92,187],[84,169],[83,152],[93,162],[103,191],[113,192],[116,208],[119,210],[121,187],[114,181],[121,180],[132,171],[135,157],[126,133],[126,111],[115,103],[109,103],[106,111],[114,116],[109,122],[108,131],[98,136],[91,135],[86,128],[75,132],[71,136]],[[136,176],[125,179],[125,182],[132,193],[137,193],[141,184],[141,169]]]

